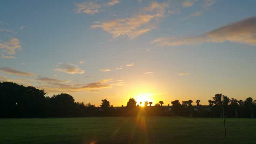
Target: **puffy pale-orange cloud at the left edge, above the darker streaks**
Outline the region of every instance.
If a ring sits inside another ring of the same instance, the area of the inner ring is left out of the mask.
[[[8,55],[16,54],[15,50],[22,50],[22,47],[19,45],[19,40],[12,38],[8,42],[3,42],[0,43],[0,53],[1,53],[1,58],[16,58],[13,56],[4,56],[4,53]]]

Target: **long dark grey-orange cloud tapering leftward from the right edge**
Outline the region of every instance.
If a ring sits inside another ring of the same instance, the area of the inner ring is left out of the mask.
[[[162,45],[200,45],[202,43],[222,43],[230,41],[249,46],[256,45],[256,16],[248,17],[240,21],[217,28],[203,35],[195,37],[165,38],[161,37],[151,43]]]

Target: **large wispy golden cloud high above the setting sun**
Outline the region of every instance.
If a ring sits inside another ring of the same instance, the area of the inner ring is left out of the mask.
[[[152,2],[150,6],[143,8],[139,14],[134,14],[132,17],[112,19],[99,25],[93,25],[91,28],[102,28],[111,33],[114,38],[128,36],[133,39],[158,28],[157,23],[160,18],[165,17],[167,6],[169,4],[165,2]]]

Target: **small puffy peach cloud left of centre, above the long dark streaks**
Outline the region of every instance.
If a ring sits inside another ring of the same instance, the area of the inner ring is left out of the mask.
[[[54,71],[61,71],[61,72],[66,72],[69,74],[75,74],[75,73],[79,73],[79,74],[83,74],[85,72],[85,70],[80,70],[77,65],[75,64],[60,64],[60,66],[58,66],[62,69],[56,68],[54,69]]]

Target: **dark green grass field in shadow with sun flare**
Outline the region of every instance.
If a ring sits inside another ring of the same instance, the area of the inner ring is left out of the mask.
[[[256,119],[85,117],[0,119],[1,144],[255,144]]]

